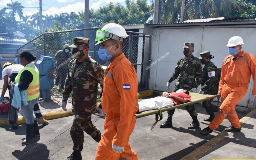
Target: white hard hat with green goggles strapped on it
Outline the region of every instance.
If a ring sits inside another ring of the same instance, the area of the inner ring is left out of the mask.
[[[112,34],[111,34],[112,33]],[[123,38],[128,37],[124,27],[116,23],[109,23],[96,31],[95,41],[97,44],[104,42],[108,39],[115,39],[119,42],[123,42]]]

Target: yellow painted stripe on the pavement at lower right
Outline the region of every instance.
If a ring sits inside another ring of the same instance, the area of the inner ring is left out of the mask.
[[[256,114],[256,109],[253,109],[250,113],[248,113],[245,117],[241,118],[239,121],[241,125],[243,125],[246,121],[248,121],[252,116]],[[204,155],[206,152],[208,152],[211,148],[213,148],[215,145],[217,145],[220,141],[225,139],[231,132],[222,131],[217,136],[213,137],[211,140],[197,148],[196,150],[192,151],[185,157],[181,158],[181,160],[187,160],[187,159],[198,159],[202,155]]]

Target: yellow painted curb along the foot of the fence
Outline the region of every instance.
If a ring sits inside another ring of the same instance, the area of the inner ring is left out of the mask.
[[[140,91],[138,93],[138,99],[151,96],[153,95],[152,90],[146,90],[146,91]],[[100,103],[97,103],[96,109],[99,107]],[[63,111],[63,110],[58,110],[58,111],[49,111],[49,112],[43,112],[43,118],[46,120],[50,119],[56,119],[56,118],[62,118],[62,117],[67,117],[67,116],[72,116],[74,113],[71,110]],[[25,119],[23,116],[19,116],[17,120],[18,125],[20,124],[25,124]],[[10,126],[8,118],[0,118],[0,126]]]

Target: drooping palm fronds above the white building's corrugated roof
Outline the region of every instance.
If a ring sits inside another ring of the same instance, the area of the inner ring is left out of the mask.
[[[182,21],[182,1],[185,3],[184,19],[229,17],[242,12],[239,0],[162,0],[165,11],[161,23]]]

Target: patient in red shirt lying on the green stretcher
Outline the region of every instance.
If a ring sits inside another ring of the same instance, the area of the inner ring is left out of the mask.
[[[163,92],[162,96],[158,96],[155,98],[150,98],[146,100],[142,100],[139,103],[139,110],[137,113],[153,110],[159,108],[171,107],[174,105],[187,103],[191,101],[191,96],[189,95],[189,91],[186,89],[179,89],[176,92],[168,93]]]

